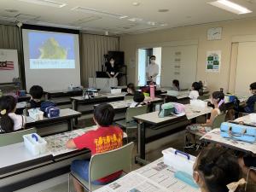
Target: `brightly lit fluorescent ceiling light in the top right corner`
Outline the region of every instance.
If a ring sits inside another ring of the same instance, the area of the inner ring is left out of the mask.
[[[228,0],[218,0],[218,1],[215,1],[215,2],[211,2],[209,4],[211,4],[215,7],[218,7],[220,9],[230,11],[230,12],[232,12],[234,14],[237,14],[237,15],[249,14],[249,13],[253,12],[253,11],[251,11],[251,10],[245,8],[245,7],[242,7],[239,4],[230,2]]]

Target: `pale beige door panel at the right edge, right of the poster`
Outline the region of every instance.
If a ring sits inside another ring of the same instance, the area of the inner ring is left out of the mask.
[[[256,82],[255,77],[256,42],[244,42],[238,45],[236,87],[237,95],[250,94],[249,85]]]

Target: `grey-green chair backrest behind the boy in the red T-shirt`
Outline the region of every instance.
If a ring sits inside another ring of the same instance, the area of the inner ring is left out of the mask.
[[[128,143],[121,148],[111,151],[94,154],[90,158],[89,167],[89,189],[91,182],[96,179],[107,177],[114,172],[131,172],[132,149],[134,143]]]

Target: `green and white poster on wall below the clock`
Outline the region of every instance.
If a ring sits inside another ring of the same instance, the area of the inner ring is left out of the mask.
[[[207,72],[219,72],[221,64],[221,50],[207,51]]]

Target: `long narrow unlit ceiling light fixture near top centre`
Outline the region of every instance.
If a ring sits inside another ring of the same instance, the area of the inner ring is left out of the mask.
[[[84,8],[84,7],[74,7],[72,10],[82,11],[82,12],[84,12],[86,14],[100,15],[100,16],[106,16],[106,17],[113,17],[113,18],[117,18],[117,19],[123,19],[123,18],[127,17],[125,15],[113,14],[113,13],[109,13],[107,11],[90,9],[90,8]]]

